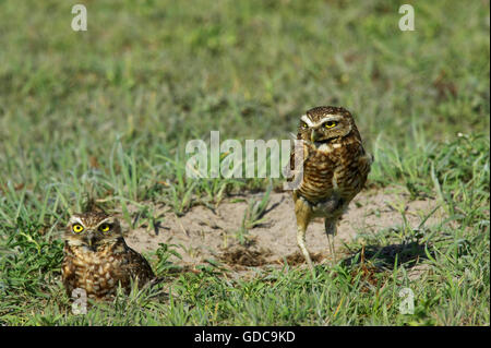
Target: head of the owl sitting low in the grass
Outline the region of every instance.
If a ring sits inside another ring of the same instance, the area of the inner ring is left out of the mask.
[[[93,251],[121,238],[118,219],[103,213],[72,215],[64,232],[64,239],[70,245],[86,247]]]

